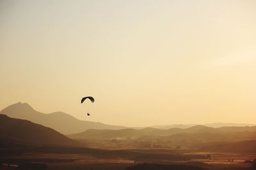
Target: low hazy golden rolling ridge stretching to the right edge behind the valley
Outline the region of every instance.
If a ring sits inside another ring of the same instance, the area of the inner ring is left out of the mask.
[[[68,135],[72,139],[117,139],[117,138],[141,138],[143,136],[172,136],[174,134],[231,134],[232,132],[256,132],[256,126],[254,127],[207,127],[204,125],[195,125],[186,129],[172,128],[172,129],[156,129],[152,127],[146,127],[143,129],[88,129],[84,132]],[[256,139],[256,138],[255,138]]]

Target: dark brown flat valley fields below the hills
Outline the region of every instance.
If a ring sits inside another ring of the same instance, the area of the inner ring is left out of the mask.
[[[81,148],[80,153],[68,153],[70,150],[68,148],[52,150],[51,148],[51,150],[45,150],[44,153],[28,150],[20,155],[2,155],[0,169],[18,169],[17,166],[24,163],[40,163],[47,166],[43,169],[52,170],[118,170],[144,163],[182,164],[206,169],[250,169],[252,162],[245,162],[245,160],[253,160],[256,157],[256,154],[188,152],[188,150],[177,152],[169,149],[87,150]],[[74,152],[78,151],[79,148],[74,150]],[[211,159],[207,159],[206,155],[211,155]],[[6,167],[6,164],[10,164],[11,167]]]

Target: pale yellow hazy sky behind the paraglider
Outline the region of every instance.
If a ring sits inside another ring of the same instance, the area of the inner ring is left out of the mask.
[[[0,110],[20,101],[115,125],[255,124],[255,9],[0,0]]]

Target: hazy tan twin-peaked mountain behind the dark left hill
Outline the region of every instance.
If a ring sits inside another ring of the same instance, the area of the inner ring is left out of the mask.
[[[34,110],[28,103],[16,103],[4,108],[0,114],[12,118],[30,120],[36,124],[51,127],[62,134],[74,134],[86,131],[86,129],[124,129],[123,126],[106,125],[99,122],[83,121],[74,118],[67,113],[41,113]]]

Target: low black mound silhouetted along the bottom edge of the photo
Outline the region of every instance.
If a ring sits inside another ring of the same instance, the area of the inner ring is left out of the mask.
[[[206,170],[202,167],[187,165],[165,165],[165,164],[138,164],[125,168],[125,170]]]

